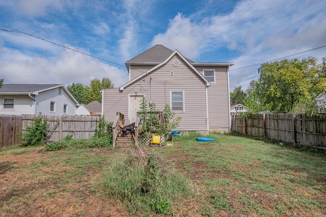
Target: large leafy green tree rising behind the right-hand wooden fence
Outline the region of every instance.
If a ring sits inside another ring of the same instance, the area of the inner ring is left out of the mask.
[[[260,66],[260,77],[250,86],[262,106],[274,112],[290,112],[294,105],[320,94],[326,87],[322,64],[314,57],[283,59]]]

